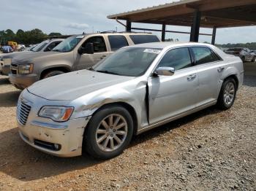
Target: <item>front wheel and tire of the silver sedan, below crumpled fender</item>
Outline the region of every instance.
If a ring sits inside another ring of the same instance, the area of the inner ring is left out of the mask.
[[[110,128],[111,116],[113,117],[112,128]],[[120,117],[119,121],[118,117]],[[118,121],[117,125],[115,125],[116,121]],[[121,125],[123,123],[126,125]],[[119,128],[121,126],[123,127]],[[125,132],[126,134],[124,135]],[[122,135],[119,133],[122,133]],[[118,140],[116,136],[121,143],[116,141]],[[132,136],[133,121],[127,109],[118,105],[105,106],[91,117],[86,127],[83,139],[83,151],[86,150],[92,157],[103,160],[116,157],[127,148]],[[107,144],[106,147],[105,144]]]

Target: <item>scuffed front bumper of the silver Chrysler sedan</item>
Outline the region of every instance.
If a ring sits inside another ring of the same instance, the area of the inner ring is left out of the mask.
[[[25,126],[18,123],[20,138],[31,147],[58,157],[82,155],[83,133],[89,118],[69,120],[67,126],[50,128],[44,122],[30,122]],[[54,144],[59,149],[54,149]]]

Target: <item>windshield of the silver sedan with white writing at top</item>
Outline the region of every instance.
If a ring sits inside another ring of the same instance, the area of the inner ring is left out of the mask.
[[[146,72],[162,49],[127,47],[110,55],[93,67],[94,71],[139,77]]]

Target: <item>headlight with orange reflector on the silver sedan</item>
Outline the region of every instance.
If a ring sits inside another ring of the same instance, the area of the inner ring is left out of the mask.
[[[38,115],[50,118],[53,121],[65,122],[69,120],[73,110],[73,107],[66,106],[43,106]]]

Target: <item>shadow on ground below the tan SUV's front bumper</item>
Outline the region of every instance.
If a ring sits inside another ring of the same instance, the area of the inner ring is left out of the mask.
[[[0,107],[17,106],[20,90],[0,93]]]

